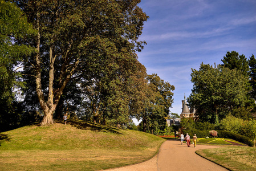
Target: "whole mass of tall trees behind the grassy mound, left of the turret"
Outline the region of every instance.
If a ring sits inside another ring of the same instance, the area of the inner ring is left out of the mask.
[[[137,60],[148,19],[139,2],[1,0],[0,132],[64,114],[164,129],[174,86]]]

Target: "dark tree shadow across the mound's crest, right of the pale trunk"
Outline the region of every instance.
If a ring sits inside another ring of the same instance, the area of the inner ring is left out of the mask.
[[[63,123],[63,121],[58,120],[56,121],[56,123]],[[107,127],[100,124],[90,123],[88,121],[83,121],[83,120],[68,120],[67,124],[70,124],[73,127],[76,127],[78,129],[83,129],[83,130],[91,130],[94,132],[111,132],[111,133],[116,133],[120,135],[122,134],[119,132],[119,129]]]

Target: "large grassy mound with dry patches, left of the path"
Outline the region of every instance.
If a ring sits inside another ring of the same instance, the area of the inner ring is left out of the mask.
[[[3,132],[0,170],[101,170],[153,157],[164,139],[148,133],[72,121]]]

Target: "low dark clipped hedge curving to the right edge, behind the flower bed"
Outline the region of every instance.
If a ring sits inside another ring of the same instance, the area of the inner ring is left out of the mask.
[[[236,141],[239,141],[240,143],[247,144],[249,146],[253,146],[254,142],[249,139],[249,137],[238,135],[233,132],[229,131],[217,131],[218,132],[218,137],[219,138],[224,138],[224,139],[233,139]]]

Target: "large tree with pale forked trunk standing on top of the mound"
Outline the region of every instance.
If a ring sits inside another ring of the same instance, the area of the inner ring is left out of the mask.
[[[144,43],[137,39],[148,17],[137,7],[139,0],[14,2],[38,30],[35,39],[25,43],[36,48],[26,64],[30,64],[44,114],[41,125],[53,124],[52,116],[68,82],[91,71],[88,60],[102,55],[123,59]]]

